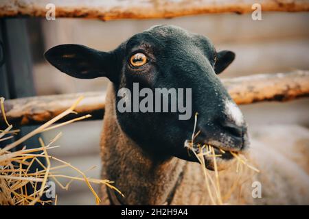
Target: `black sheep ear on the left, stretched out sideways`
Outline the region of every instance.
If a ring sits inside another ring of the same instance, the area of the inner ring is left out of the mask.
[[[111,77],[113,55],[78,44],[62,44],[49,49],[46,60],[67,75],[81,79]]]

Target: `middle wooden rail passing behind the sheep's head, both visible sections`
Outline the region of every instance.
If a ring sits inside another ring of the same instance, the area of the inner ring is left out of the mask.
[[[251,75],[222,79],[229,94],[238,104],[260,101],[289,101],[309,96],[309,70],[271,75]],[[34,96],[5,101],[5,112],[10,123],[33,125],[45,123],[64,110],[67,110],[79,96],[84,100],[76,107],[78,115],[71,114],[65,120],[92,114],[93,119],[102,119],[105,96],[101,92]],[[4,123],[0,112],[0,124]]]

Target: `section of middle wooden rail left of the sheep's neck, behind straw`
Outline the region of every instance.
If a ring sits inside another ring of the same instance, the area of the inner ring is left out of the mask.
[[[86,114],[91,114],[91,118],[93,119],[103,118],[105,96],[101,92],[33,96],[5,100],[5,115],[9,123],[14,125],[36,125],[45,123],[61,112],[69,109],[80,96],[84,96],[84,99],[74,110],[78,115],[69,114],[64,120],[70,120]],[[59,122],[64,120],[62,119]],[[3,116],[0,112],[0,124],[1,123],[3,123]]]

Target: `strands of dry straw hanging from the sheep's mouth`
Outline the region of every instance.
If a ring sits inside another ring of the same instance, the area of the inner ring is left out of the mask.
[[[233,179],[234,181],[232,182],[231,186],[229,187],[229,189],[227,191],[225,191],[225,195],[222,196],[222,188],[220,188],[220,177],[219,177],[219,172],[218,172],[218,165],[217,165],[217,161],[216,161],[216,157],[220,157],[222,155],[216,155],[215,150],[214,150],[214,146],[211,145],[207,145],[207,144],[198,144],[198,152],[196,152],[196,150],[194,149],[194,139],[196,138],[196,136],[198,136],[198,134],[200,133],[200,131],[196,132],[196,124],[197,124],[197,117],[198,114],[195,114],[195,118],[194,118],[194,129],[193,129],[193,133],[192,133],[192,140],[190,142],[190,144],[188,144],[188,149],[190,149],[190,151],[192,151],[194,153],[194,155],[196,156],[196,158],[198,159],[198,162],[201,164],[201,168],[203,170],[203,175],[205,177],[205,185],[207,188],[207,192],[208,192],[208,196],[209,196],[209,200],[210,200],[210,204],[211,205],[226,205],[229,204],[229,198],[231,198],[233,192],[236,192],[238,190],[239,194],[238,194],[238,200],[240,200],[240,196],[241,196],[241,191],[242,191],[242,185],[249,181],[249,179],[253,178],[253,175],[256,172],[260,172],[260,170],[258,170],[258,168],[255,168],[254,166],[252,166],[251,164],[249,164],[249,159],[247,159],[247,157],[245,157],[244,155],[240,154],[240,153],[236,153],[236,152],[232,152],[229,151],[229,153],[231,153],[231,155],[233,155],[233,157],[236,158],[236,172],[238,173],[238,175],[236,177],[234,177],[235,179]],[[226,151],[219,149],[221,153],[226,153]],[[207,170],[206,165],[205,165],[205,156],[206,157],[211,157],[213,159],[213,168],[214,168],[214,174],[211,174],[211,172],[209,170]],[[244,171],[243,166],[249,168],[249,170],[251,170],[251,173],[248,174],[247,171]],[[232,171],[232,170],[231,170]],[[253,174],[252,174],[253,172]],[[249,177],[247,177],[247,179],[241,180],[241,178],[244,175],[249,175]],[[238,201],[239,203],[240,201]]]

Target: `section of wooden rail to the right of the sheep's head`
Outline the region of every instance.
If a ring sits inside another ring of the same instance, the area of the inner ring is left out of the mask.
[[[222,79],[237,104],[290,101],[309,96],[309,70]]]

